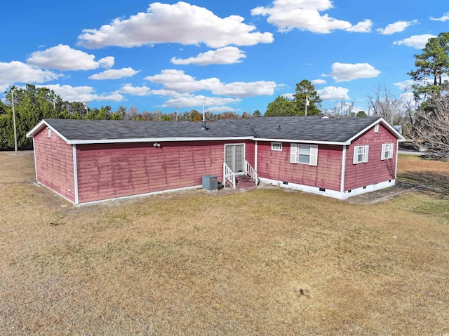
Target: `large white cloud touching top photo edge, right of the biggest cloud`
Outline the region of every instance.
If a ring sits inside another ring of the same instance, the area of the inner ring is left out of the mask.
[[[272,23],[281,32],[294,28],[307,30],[318,34],[328,34],[336,29],[349,32],[370,32],[372,22],[364,20],[352,25],[351,22],[330,18],[320,12],[333,8],[330,0],[274,0],[272,6],[257,7],[251,10],[252,15],[268,16],[267,22]]]

